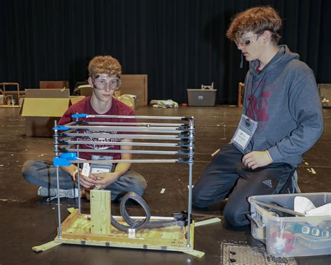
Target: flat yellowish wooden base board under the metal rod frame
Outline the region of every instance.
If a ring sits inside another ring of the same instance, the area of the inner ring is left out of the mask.
[[[151,217],[151,220],[153,220],[153,217]],[[122,217],[117,217],[117,221],[124,223]],[[135,231],[135,234],[129,237],[128,233],[119,231],[111,226],[110,235],[91,234],[90,215],[78,215],[78,209],[73,210],[73,213],[64,220],[61,227],[61,238],[57,236],[54,242],[115,248],[193,252],[194,223],[191,224],[189,246],[187,246],[186,239],[187,227],[141,229]]]

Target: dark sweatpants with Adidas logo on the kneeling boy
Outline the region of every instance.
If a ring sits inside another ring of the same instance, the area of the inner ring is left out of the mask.
[[[293,193],[291,178],[295,167],[272,163],[249,169],[242,164],[242,156],[232,144],[224,145],[203,170],[192,194],[193,205],[200,208],[221,201],[230,194],[223,215],[235,227],[249,224],[246,217],[246,213],[249,213],[249,196]]]

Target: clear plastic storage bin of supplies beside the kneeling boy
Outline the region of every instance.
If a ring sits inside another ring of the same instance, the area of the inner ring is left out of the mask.
[[[293,210],[296,196],[304,196],[316,207],[331,203],[331,193],[300,193],[251,196],[251,234],[265,243],[275,257],[299,257],[331,254],[331,213],[324,216],[280,217],[277,211],[260,206],[277,203]]]

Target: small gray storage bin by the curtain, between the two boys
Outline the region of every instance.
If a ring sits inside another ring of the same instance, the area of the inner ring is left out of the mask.
[[[217,89],[187,89],[189,106],[215,106]]]

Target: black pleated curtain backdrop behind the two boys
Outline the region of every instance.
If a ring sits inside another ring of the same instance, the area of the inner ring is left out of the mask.
[[[230,17],[273,6],[284,19],[280,44],[298,52],[318,83],[331,83],[330,0],[0,0],[0,82],[87,78],[96,55],[124,73],[148,75],[148,97],[187,101],[186,89],[214,82],[217,103],[237,103],[240,51],[225,36]]]

